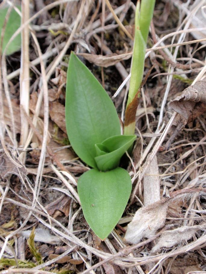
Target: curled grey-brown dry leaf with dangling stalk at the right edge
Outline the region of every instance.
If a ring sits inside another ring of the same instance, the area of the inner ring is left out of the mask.
[[[166,150],[187,123],[206,112],[206,81],[198,81],[193,86],[187,87],[180,96],[170,102],[169,108],[178,115],[173,123],[173,133],[165,145]]]

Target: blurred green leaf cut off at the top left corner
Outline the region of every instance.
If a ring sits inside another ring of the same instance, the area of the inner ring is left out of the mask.
[[[17,6],[17,8],[21,10],[20,6]],[[7,11],[8,11],[8,8],[0,9],[0,36],[1,36],[2,28],[4,26],[4,21],[5,21]],[[8,44],[8,41],[11,39],[11,36],[14,34],[14,32],[17,31],[20,25],[21,25],[21,17],[14,9],[12,9],[11,13],[9,14],[9,19],[5,28],[2,52],[4,52],[5,47]],[[17,37],[14,38],[14,40],[8,46],[6,54],[10,55],[14,53],[15,51],[20,50],[20,48],[21,48],[21,34],[17,35]]]

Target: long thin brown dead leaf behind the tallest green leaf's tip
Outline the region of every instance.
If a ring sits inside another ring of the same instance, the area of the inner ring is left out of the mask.
[[[83,56],[90,63],[98,65],[100,67],[107,68],[109,66],[115,65],[120,61],[130,59],[132,57],[132,53],[124,53],[117,55],[113,53],[112,56],[103,56],[101,54],[90,54],[90,53],[77,53],[77,55]]]

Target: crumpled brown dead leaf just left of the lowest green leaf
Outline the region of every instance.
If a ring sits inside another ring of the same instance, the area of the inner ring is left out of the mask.
[[[71,202],[71,198],[63,194],[54,202],[51,202],[50,204],[46,205],[45,209],[47,210],[49,215],[53,215],[57,210],[59,210],[63,212],[66,217],[68,217],[70,202]]]

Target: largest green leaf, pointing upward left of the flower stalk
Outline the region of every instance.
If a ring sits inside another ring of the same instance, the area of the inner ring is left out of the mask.
[[[95,144],[119,135],[120,122],[110,97],[74,53],[67,70],[65,120],[73,150],[97,168]]]

